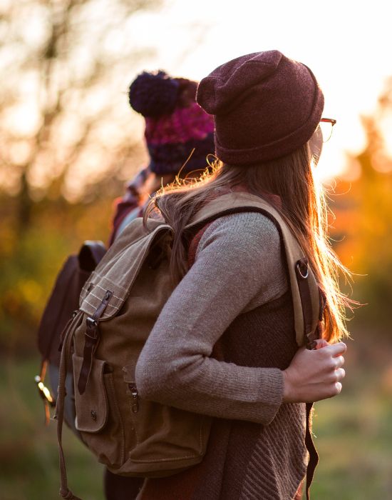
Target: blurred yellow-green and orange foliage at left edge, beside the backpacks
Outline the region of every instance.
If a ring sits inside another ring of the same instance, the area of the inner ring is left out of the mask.
[[[15,204],[12,198],[3,202]],[[38,321],[58,270],[84,240],[107,240],[111,203],[42,201],[33,206],[30,224],[22,227],[16,210],[5,214],[0,228],[0,349],[20,354],[36,349]]]

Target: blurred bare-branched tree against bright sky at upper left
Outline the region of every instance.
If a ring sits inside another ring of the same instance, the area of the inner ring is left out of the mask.
[[[131,21],[160,0],[4,0],[0,6],[0,185],[32,199],[78,199],[133,150],[123,102],[141,55]],[[143,52],[145,56],[145,52]],[[126,114],[130,121],[129,114]]]

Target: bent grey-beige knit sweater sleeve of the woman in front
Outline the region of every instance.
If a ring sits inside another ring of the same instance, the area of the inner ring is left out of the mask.
[[[282,404],[282,371],[210,356],[255,298],[284,293],[283,269],[279,233],[266,216],[241,213],[214,221],[140,354],[140,396],[210,416],[269,424]]]

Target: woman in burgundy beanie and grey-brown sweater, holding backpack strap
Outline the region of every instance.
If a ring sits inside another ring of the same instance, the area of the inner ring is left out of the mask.
[[[177,286],[140,354],[136,384],[144,399],[215,419],[201,464],[146,479],[138,499],[299,498],[316,464],[306,408],[339,394],[345,375],[349,301],[337,276],[346,270],[313,176],[324,96],[304,64],[265,51],[212,71],[197,101],[214,116],[218,161],[148,206],[146,216],[158,210],[174,229]],[[273,206],[306,256],[325,302],[316,349],[296,342],[282,239],[267,214],[240,211],[187,231],[203,206],[236,192]]]

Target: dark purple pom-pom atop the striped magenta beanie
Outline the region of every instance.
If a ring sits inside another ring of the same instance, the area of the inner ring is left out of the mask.
[[[129,87],[130,106],[146,117],[171,114],[177,103],[179,84],[165,71],[143,71]]]

